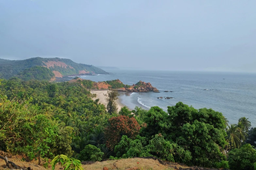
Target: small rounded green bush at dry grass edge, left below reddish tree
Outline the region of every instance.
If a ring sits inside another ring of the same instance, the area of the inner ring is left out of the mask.
[[[78,156],[78,159],[81,161],[101,161],[103,152],[100,151],[97,147],[93,145],[87,145]]]

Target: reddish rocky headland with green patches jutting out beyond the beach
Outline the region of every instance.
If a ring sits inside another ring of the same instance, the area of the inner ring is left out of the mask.
[[[70,80],[69,82],[79,82],[82,86],[84,86],[87,89],[120,89],[124,92],[159,92],[157,88],[153,87],[149,82],[146,83],[144,81],[139,81],[136,84],[133,85],[125,85],[122,81],[119,79],[116,80],[110,80],[110,81],[102,81],[102,82],[94,82],[91,80],[85,80],[82,78],[74,78],[73,80]]]

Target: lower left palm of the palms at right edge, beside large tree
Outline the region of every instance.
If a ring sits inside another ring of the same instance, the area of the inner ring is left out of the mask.
[[[235,124],[231,124],[230,126],[228,126],[226,139],[230,141],[230,143],[233,145],[233,148],[239,148],[241,145],[239,131],[240,128],[237,127]]]

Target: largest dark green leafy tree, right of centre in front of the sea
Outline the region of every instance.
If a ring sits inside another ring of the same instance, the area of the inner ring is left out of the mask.
[[[152,134],[161,133],[165,140],[189,150],[192,160],[188,164],[214,167],[216,162],[226,159],[220,150],[227,144],[222,113],[207,108],[197,110],[182,102],[168,106],[167,111],[151,107],[141,135],[151,140]]]

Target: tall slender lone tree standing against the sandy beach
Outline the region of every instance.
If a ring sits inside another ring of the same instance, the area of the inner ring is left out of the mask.
[[[118,99],[118,92],[115,90],[108,91],[105,95],[107,101],[107,110],[110,114],[117,112],[116,100]]]

